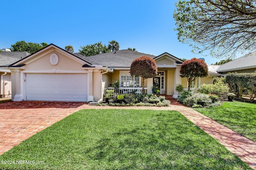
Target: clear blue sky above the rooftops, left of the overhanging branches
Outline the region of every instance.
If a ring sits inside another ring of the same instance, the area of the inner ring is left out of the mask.
[[[1,3],[0,49],[17,41],[53,43],[61,48],[116,40],[120,49],[158,56],[205,58],[177,40],[173,12],[178,0],[12,0]]]

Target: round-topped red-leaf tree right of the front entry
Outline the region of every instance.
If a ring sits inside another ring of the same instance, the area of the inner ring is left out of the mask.
[[[196,78],[208,76],[208,66],[203,60],[193,58],[182,63],[180,74],[181,77],[186,77],[188,79],[189,92],[190,85]]]

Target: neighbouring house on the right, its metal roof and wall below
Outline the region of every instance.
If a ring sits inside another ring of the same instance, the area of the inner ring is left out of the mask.
[[[256,51],[240,57],[238,59],[234,59],[228,63],[222,64],[217,72],[219,74],[227,74],[228,72],[237,72],[237,73],[250,73],[256,71]]]

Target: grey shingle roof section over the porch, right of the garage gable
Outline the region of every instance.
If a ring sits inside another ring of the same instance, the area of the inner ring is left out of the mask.
[[[130,67],[134,59],[142,56],[148,56],[151,58],[156,57],[154,55],[148,55],[126,49],[94,55],[86,57],[86,59],[90,59],[94,63],[107,67]]]

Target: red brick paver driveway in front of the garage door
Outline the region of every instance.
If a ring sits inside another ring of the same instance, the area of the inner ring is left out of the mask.
[[[0,154],[80,110],[83,102],[8,102],[0,104]]]

